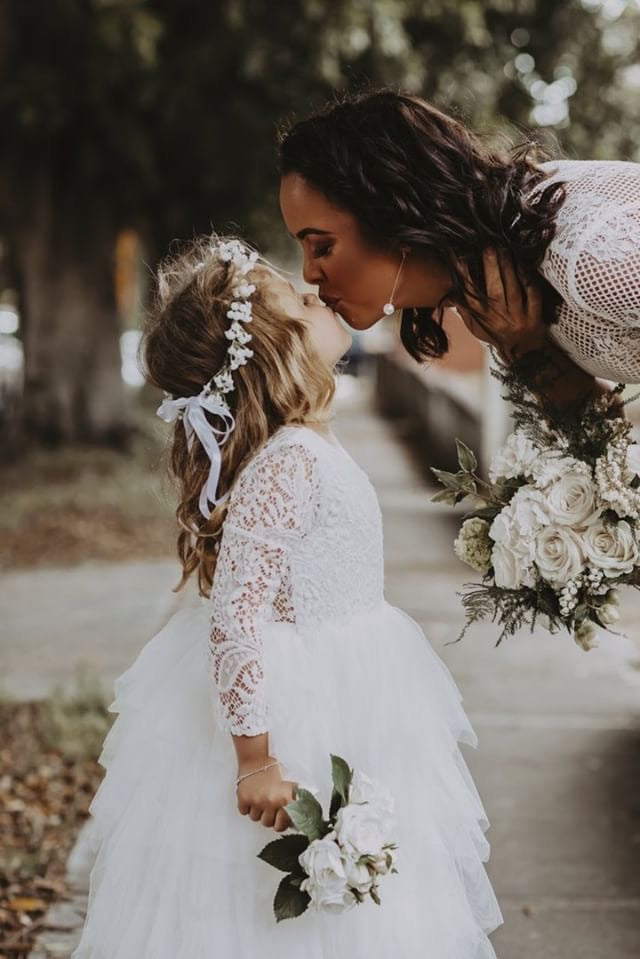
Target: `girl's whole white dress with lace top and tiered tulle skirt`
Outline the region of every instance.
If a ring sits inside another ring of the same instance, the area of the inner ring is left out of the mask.
[[[373,487],[337,444],[280,429],[236,482],[210,601],[115,681],[91,805],[97,858],[72,959],[490,959],[487,819],[446,667],[383,595]],[[230,732],[331,793],[330,753],[395,797],[397,875],[340,914],[276,922],[277,839],[241,816]]]

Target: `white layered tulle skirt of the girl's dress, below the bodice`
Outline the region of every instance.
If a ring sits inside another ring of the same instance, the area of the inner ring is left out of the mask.
[[[277,923],[273,829],[239,814],[216,721],[206,602],[175,613],[116,679],[91,807],[96,859],[72,959],[493,959],[502,917],[485,812],[458,749],[476,745],[419,626],[378,607],[312,631],[264,631],[269,750],[325,811],[330,753],[395,799],[397,875],[340,914]]]

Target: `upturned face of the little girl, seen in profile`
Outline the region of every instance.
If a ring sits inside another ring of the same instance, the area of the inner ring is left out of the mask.
[[[269,278],[269,289],[283,313],[307,324],[314,349],[332,369],[352,341],[338,314],[325,306],[315,293],[300,293],[278,273]]]

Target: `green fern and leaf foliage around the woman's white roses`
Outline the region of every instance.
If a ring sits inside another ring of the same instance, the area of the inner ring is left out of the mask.
[[[624,385],[588,401],[567,404],[563,409],[553,408],[531,392],[518,378],[512,367],[502,363],[497,355],[495,376],[505,387],[503,398],[513,405],[514,433],[530,441],[541,457],[555,462],[571,460],[588,474],[597,488],[602,524],[616,530],[625,526],[625,534],[637,551],[640,529],[640,475],[629,477],[625,457],[631,438],[632,425],[624,417],[624,406],[637,397],[621,400]],[[489,536],[492,522],[508,507],[517,491],[530,485],[525,475],[496,476],[488,483],[478,475],[478,461],[461,440],[456,439],[459,471],[456,473],[432,469],[444,489],[433,497],[434,502],[455,506],[467,499],[474,508],[465,514],[456,552],[477,572],[482,582],[464,584],[459,593],[466,614],[466,622],[456,641],[462,639],[470,626],[490,620],[498,622],[501,631],[496,645],[514,635],[525,625],[533,632],[539,617],[544,617],[550,631],[561,628],[573,631],[576,642],[583,649],[595,645],[595,627],[610,629],[618,618],[617,589],[622,585],[640,588],[640,558],[614,574],[604,574],[602,568],[587,569],[565,583],[550,583],[536,570],[532,583],[507,588],[496,583],[492,562],[495,545]],[[640,451],[640,447],[634,447]],[[462,542],[464,540],[464,542]]]

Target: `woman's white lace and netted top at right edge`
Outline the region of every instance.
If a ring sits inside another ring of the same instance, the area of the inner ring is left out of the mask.
[[[640,382],[640,163],[554,160],[566,199],[541,272],[562,295],[551,337],[578,366]]]

